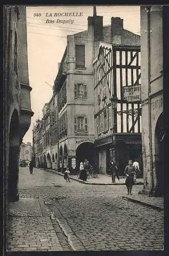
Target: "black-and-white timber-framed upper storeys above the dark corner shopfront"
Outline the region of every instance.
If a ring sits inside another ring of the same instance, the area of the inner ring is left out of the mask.
[[[140,133],[140,97],[134,102],[126,101],[123,97],[123,87],[140,87],[140,47],[100,43],[93,66],[96,139],[115,133]],[[102,113],[106,110],[112,111],[111,115],[107,114],[108,119],[112,118],[111,127],[108,120],[107,132],[98,123],[98,120],[104,119]],[[98,118],[100,115],[102,118]],[[98,129],[98,126],[101,128]]]

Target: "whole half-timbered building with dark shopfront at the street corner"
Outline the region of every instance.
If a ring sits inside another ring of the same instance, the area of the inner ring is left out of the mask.
[[[96,159],[108,173],[113,158],[123,175],[129,159],[142,166],[140,47],[101,42],[93,66]]]

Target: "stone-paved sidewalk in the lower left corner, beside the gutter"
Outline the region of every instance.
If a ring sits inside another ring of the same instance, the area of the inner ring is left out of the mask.
[[[47,233],[44,232],[45,229]],[[58,251],[62,251],[56,233],[54,240],[50,242],[48,235],[50,232],[53,234],[53,226],[49,217],[43,217],[40,203],[35,198],[21,198],[18,202],[9,204],[7,230],[10,238],[8,251],[20,251],[20,248],[23,251],[43,251],[55,245]]]

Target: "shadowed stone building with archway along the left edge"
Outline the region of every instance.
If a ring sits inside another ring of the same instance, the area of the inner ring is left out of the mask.
[[[5,149],[7,201],[17,201],[19,146],[31,124],[26,8],[5,7]]]

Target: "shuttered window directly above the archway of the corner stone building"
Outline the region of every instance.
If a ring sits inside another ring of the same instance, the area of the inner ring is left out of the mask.
[[[87,133],[88,132],[88,118],[86,116],[74,117],[74,132]]]

